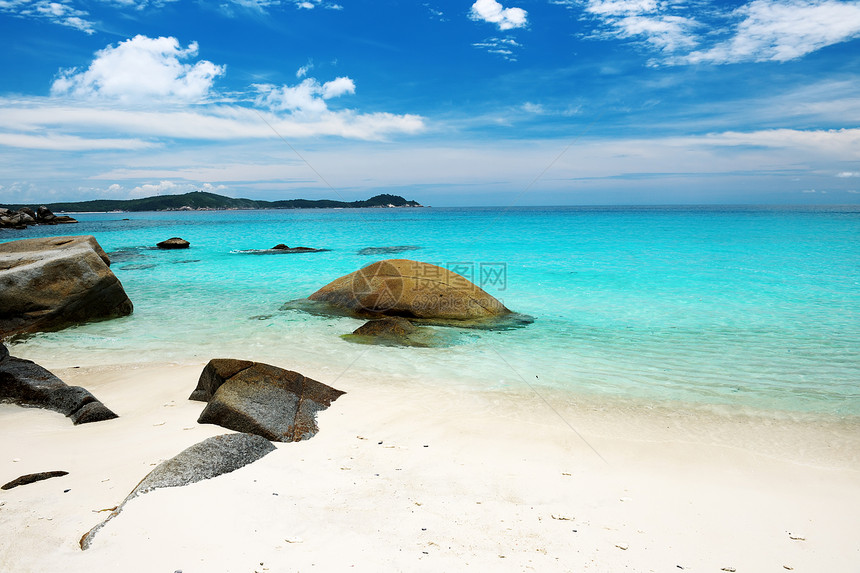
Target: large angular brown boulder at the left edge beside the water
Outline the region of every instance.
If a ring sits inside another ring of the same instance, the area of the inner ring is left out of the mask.
[[[90,235],[0,243],[0,338],[131,314]]]

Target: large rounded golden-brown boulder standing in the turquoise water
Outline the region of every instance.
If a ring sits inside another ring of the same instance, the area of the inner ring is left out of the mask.
[[[332,281],[308,298],[359,318],[475,320],[511,314],[467,278],[409,259],[378,261]]]

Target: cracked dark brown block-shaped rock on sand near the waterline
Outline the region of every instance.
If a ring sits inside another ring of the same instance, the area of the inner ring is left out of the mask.
[[[208,401],[197,420],[276,442],[307,440],[319,431],[316,413],[344,392],[276,366],[213,359],[191,400]]]

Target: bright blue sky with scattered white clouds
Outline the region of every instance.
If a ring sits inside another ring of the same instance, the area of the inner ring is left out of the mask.
[[[860,2],[0,0],[0,203],[860,203]]]

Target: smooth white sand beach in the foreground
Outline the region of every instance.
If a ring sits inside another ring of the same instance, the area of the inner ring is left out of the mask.
[[[0,571],[860,571],[856,424],[357,375],[313,439],[141,496],[81,551],[98,510],[227,432],[187,400],[202,368],[55,371],[109,422],[0,405],[0,482],[70,472],[0,491]]]

